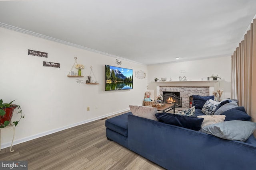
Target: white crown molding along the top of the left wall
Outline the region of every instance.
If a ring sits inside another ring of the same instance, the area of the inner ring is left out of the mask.
[[[116,55],[104,53],[104,52],[102,52],[102,51],[98,51],[98,50],[95,50],[95,49],[90,49],[90,48],[88,48],[88,47],[84,47],[84,46],[77,45],[77,44],[74,44],[74,43],[69,43],[69,42],[67,42],[67,41],[62,41],[62,40],[60,40],[60,39],[56,39],[56,38],[53,38],[53,37],[49,37],[49,36],[46,36],[46,35],[42,35],[42,34],[40,34],[40,33],[35,33],[35,32],[32,32],[32,31],[28,31],[28,30],[26,30],[26,29],[22,29],[22,28],[19,28],[19,27],[14,27],[14,26],[12,26],[12,25],[8,25],[8,24],[5,24],[5,23],[1,23],[1,22],[0,22],[0,27],[4,27],[4,28],[6,28],[6,29],[11,29],[11,30],[13,30],[13,31],[18,31],[18,32],[21,32],[21,33],[25,33],[25,34],[28,34],[28,35],[35,36],[35,37],[47,39],[47,40],[54,41],[54,42],[57,42],[57,43],[61,43],[61,44],[64,44],[64,45],[69,45],[69,46],[72,46],[72,47],[76,47],[76,48],[80,48],[80,49],[92,51],[92,52],[99,53],[99,54],[102,54],[102,55],[107,55],[107,56],[109,56],[109,57],[113,57],[113,58],[117,58],[117,59],[121,59],[121,60],[130,61],[130,62],[132,62],[132,63],[144,64],[144,63],[139,63],[139,62],[132,61],[132,60],[129,60],[129,59],[125,59],[125,58],[122,58],[122,57],[119,57],[119,56],[116,56]],[[146,65],[146,64],[144,64],[144,65]]]

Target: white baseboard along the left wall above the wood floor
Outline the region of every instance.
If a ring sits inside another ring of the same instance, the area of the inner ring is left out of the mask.
[[[111,115],[115,115],[115,114],[118,114],[118,113],[121,113],[121,112],[124,112],[124,111],[128,111],[130,109],[123,109],[123,110],[120,110],[120,111],[116,111],[116,112],[113,112],[113,113],[109,113],[107,115],[102,115],[102,116],[99,116],[99,117],[94,117],[92,119],[88,119],[88,120],[85,120],[85,121],[81,121],[81,122],[78,122],[78,123],[74,123],[74,124],[71,124],[71,125],[68,125],[68,126],[65,126],[65,127],[60,127],[58,129],[53,129],[51,131],[46,131],[46,132],[43,132],[43,133],[38,133],[36,135],[33,135],[33,136],[30,136],[30,137],[25,137],[23,139],[18,139],[18,140],[15,140],[13,141],[13,144],[12,142],[9,142],[9,143],[4,143],[4,144],[1,144],[1,149],[4,149],[4,148],[7,148],[7,147],[10,147],[11,144],[14,146],[14,145],[17,145],[17,144],[20,144],[20,143],[24,143],[24,142],[27,142],[27,141],[31,141],[33,139],[36,139],[36,138],[39,138],[39,137],[43,137],[43,136],[46,136],[46,135],[50,135],[52,133],[56,133],[56,132],[59,132],[59,131],[63,131],[65,129],[68,129],[68,128],[71,128],[71,127],[75,127],[75,126],[78,126],[78,125],[82,125],[84,123],[89,123],[91,121],[95,121],[95,120],[98,120],[98,119],[103,119],[105,117],[108,117],[108,116],[111,116]]]

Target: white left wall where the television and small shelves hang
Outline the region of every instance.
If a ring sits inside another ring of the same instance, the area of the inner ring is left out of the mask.
[[[148,80],[136,78],[135,72],[147,73],[144,64],[119,59],[121,67],[134,71],[133,89],[104,91],[104,66],[118,66],[116,58],[2,27],[0,37],[0,99],[16,100],[14,104],[20,105],[25,114],[16,127],[14,144],[142,104]],[[46,52],[48,58],[28,55],[28,49]],[[79,79],[87,80],[92,66],[96,76],[92,79],[100,84],[78,84],[77,78],[67,76],[74,57],[85,65],[84,77]],[[60,63],[60,68],[45,67],[43,61]],[[14,115],[13,120],[17,119]],[[2,129],[2,148],[10,146],[11,140],[12,130]]]

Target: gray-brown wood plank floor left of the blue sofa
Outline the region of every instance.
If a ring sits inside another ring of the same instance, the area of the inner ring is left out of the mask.
[[[165,170],[106,139],[100,119],[2,149],[0,160],[26,160],[29,170]]]

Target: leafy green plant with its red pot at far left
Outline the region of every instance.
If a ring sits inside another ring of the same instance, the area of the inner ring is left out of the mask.
[[[12,102],[14,101],[15,100],[13,100]],[[3,103],[2,99],[0,100],[0,128],[4,128],[10,124],[14,109],[16,108],[18,109],[17,114],[20,113],[20,119],[24,118],[21,107],[19,105],[12,104],[12,102],[6,104]],[[16,126],[18,125],[20,119],[18,121],[13,121],[12,123]]]

